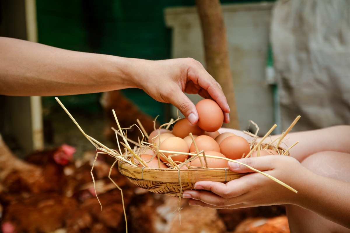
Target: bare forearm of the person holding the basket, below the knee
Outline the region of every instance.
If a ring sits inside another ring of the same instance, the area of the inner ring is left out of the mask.
[[[350,228],[350,183],[314,173],[307,175],[305,188],[299,189],[297,205]]]

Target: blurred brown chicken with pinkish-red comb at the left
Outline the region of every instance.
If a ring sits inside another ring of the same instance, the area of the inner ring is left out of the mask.
[[[0,157],[6,157],[6,163],[14,166],[4,167],[7,170],[3,176],[4,187],[12,192],[41,193],[56,191],[60,193],[66,183],[64,166],[73,158],[75,148],[62,145],[53,150],[35,152],[26,161],[16,158],[3,144]],[[1,148],[0,148],[1,150]],[[0,179],[1,180],[1,179]]]

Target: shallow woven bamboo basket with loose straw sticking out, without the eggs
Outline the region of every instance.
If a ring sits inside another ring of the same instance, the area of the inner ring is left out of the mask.
[[[55,97],[55,99],[61,105],[61,107],[64,109],[64,111],[69,115],[69,117],[72,119],[72,121],[76,124],[78,129],[87,138],[87,140],[89,140],[96,147],[97,153],[96,153],[96,157],[94,159],[94,163],[95,163],[97,156],[99,154],[110,155],[116,159],[114,161],[113,165],[111,166],[110,174],[111,174],[112,168],[118,162],[119,172],[121,174],[125,175],[127,177],[127,179],[130,180],[133,184],[137,185],[138,187],[147,189],[148,191],[155,192],[158,194],[165,194],[165,195],[179,197],[179,204],[180,204],[180,199],[182,197],[183,191],[184,190],[193,190],[194,184],[197,181],[208,180],[208,181],[217,181],[217,182],[228,182],[228,181],[238,179],[239,177],[246,175],[246,174],[232,172],[228,168],[208,168],[207,158],[225,159],[225,160],[228,160],[231,162],[239,163],[243,166],[250,168],[254,172],[258,172],[258,173],[268,177],[269,179],[279,183],[280,185],[286,187],[290,191],[297,193],[297,191],[295,189],[293,189],[289,185],[283,183],[282,181],[276,179],[275,177],[273,177],[267,173],[261,172],[261,171],[255,169],[251,166],[248,166],[248,165],[241,163],[239,161],[236,161],[236,160],[218,157],[218,156],[213,156],[210,154],[205,154],[204,151],[198,152],[198,150],[197,150],[198,153],[184,153],[184,152],[176,152],[176,151],[159,150],[158,146],[154,146],[154,145],[144,141],[145,138],[148,139],[149,136],[148,136],[147,132],[144,130],[140,121],[137,121],[139,125],[134,124],[128,128],[121,128],[114,110],[112,110],[112,111],[113,111],[114,118],[116,119],[116,122],[118,125],[118,130],[114,129],[114,128],[112,128],[112,130],[114,130],[114,132],[116,133],[118,150],[108,148],[107,146],[100,143],[96,139],[87,135],[83,131],[83,129],[79,126],[79,124],[76,122],[76,120],[73,118],[73,116],[69,113],[69,111],[64,107],[62,102],[57,97]],[[257,133],[259,131],[259,127],[257,126],[257,124],[250,121],[251,123],[253,123],[255,125],[257,130],[256,130],[255,134],[247,132],[247,131],[243,131],[244,133],[250,135],[253,138],[253,141],[250,143],[250,148],[251,148],[250,152],[247,155],[243,154],[242,158],[247,158],[247,157],[251,156],[251,154],[254,151],[257,151],[258,156],[259,156],[260,150],[266,150],[266,149],[272,149],[275,152],[278,152],[279,155],[288,156],[290,148],[295,146],[298,142],[294,143],[292,146],[290,146],[287,149],[282,148],[280,146],[280,144],[282,143],[283,138],[285,138],[287,133],[293,128],[293,126],[299,120],[299,118],[300,118],[300,116],[297,116],[295,118],[294,122],[289,126],[289,128],[284,133],[281,134],[281,136],[279,138],[276,138],[274,141],[271,141],[269,143],[263,143],[263,142],[270,135],[270,133],[276,128],[277,125],[276,124],[273,125],[272,128],[265,134],[265,136],[262,137],[262,139],[259,142],[257,142],[257,139],[258,139]],[[180,119],[179,117],[176,120],[172,119],[169,123],[161,125],[159,127],[159,129],[161,129],[163,127],[168,129],[170,125],[174,124],[179,119]],[[133,141],[133,140],[130,140],[127,138],[127,129],[131,129],[133,126],[137,127],[140,130],[141,135],[142,135],[141,140],[139,139],[138,141]],[[155,128],[155,124],[154,124],[154,128]],[[190,135],[192,137],[194,145],[196,146],[192,134],[190,134]],[[122,141],[119,141],[118,137],[120,137]],[[121,146],[123,147],[123,150],[122,150]],[[156,156],[158,159],[158,165],[160,165],[160,163],[161,163],[160,157],[162,157],[163,160],[166,160],[166,165],[168,165],[169,167],[168,168],[160,168],[160,166],[158,166],[158,168],[148,167],[147,162],[140,158],[140,154],[142,154],[143,152],[145,152],[146,150],[149,150],[149,149],[151,149],[155,152],[154,156]],[[188,155],[189,158],[182,163],[177,163],[177,162],[174,162],[172,160],[171,155],[167,158],[163,153],[171,153],[171,154],[177,154],[177,155],[184,154],[184,155]],[[194,160],[197,157],[200,158],[202,166],[201,167],[189,166],[188,162]],[[202,158],[203,158],[203,160],[202,160]],[[94,163],[93,163],[92,169],[91,169],[91,176],[92,176],[92,181],[94,183],[94,188],[96,191],[95,180],[94,180],[94,177],[92,174]],[[142,167],[138,166],[140,164],[142,165]],[[186,166],[186,169],[184,169],[185,166]],[[127,223],[126,214],[125,214],[125,207],[124,207],[123,191],[111,179],[110,176],[109,176],[109,179],[121,191],[125,222]],[[97,194],[96,194],[96,197],[98,199]],[[101,206],[101,208],[102,208],[102,206]],[[180,211],[180,208],[178,208],[178,210]]]

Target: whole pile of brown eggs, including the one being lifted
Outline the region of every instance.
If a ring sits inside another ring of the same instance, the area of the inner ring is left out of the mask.
[[[167,129],[153,131],[149,134],[148,142],[163,151],[196,153],[197,150],[198,152],[203,150],[205,154],[229,159],[240,159],[243,154],[250,152],[250,144],[243,137],[229,132],[222,134],[218,132],[223,124],[224,114],[215,101],[201,100],[196,104],[196,108],[199,116],[197,125],[192,125],[186,118],[183,118],[174,124],[173,131]],[[193,134],[197,148],[189,135],[190,133]],[[167,157],[171,156],[172,160],[177,163],[188,159],[188,155],[163,154]],[[147,150],[141,155],[141,158],[147,162],[149,167],[158,168],[157,157],[153,155],[153,150]],[[149,161],[152,157],[154,161]],[[160,159],[167,162],[162,157]],[[224,159],[207,158],[209,168],[225,168],[228,167],[227,163],[228,161]],[[202,167],[199,158],[192,160],[188,165]],[[165,163],[161,163],[161,168],[167,168]],[[185,168],[187,167],[183,166],[181,169]]]

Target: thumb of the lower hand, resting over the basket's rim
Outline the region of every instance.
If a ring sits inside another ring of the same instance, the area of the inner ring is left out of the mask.
[[[254,157],[254,158],[237,159],[235,161],[241,162],[259,171],[267,171],[267,170],[274,169],[274,161],[276,161],[276,157],[274,155],[267,155],[267,156]],[[232,172],[237,172],[237,173],[255,172],[254,170],[244,165],[241,165],[239,163],[230,161],[228,165]]]

